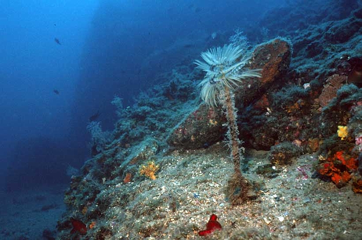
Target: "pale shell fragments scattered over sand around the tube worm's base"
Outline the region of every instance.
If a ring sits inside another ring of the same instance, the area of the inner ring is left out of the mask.
[[[319,179],[304,179],[297,168],[305,164],[307,156],[301,156],[290,166],[277,166],[282,172],[276,178],[258,176],[265,185],[260,196],[240,206],[231,206],[224,195],[227,176],[232,173],[232,163],[227,158],[227,152],[215,151],[208,156],[200,150],[193,154],[194,156],[190,153],[183,156],[178,153],[177,156],[172,156],[170,164],[164,165],[159,172],[159,176],[167,177],[160,177],[152,182],[151,187],[147,187],[148,194],[153,194],[152,198],[157,199],[165,193],[171,193],[178,201],[175,212],[165,205],[158,209],[166,213],[164,218],[154,220],[155,225],[162,226],[162,239],[174,239],[178,234],[183,236],[182,239],[200,239],[197,232],[204,229],[205,219],[213,213],[218,216],[223,229],[210,235],[211,239],[251,233],[259,237],[269,236],[271,239],[332,237],[334,234],[329,230],[331,226],[341,234],[357,234],[358,224],[362,222],[361,216],[353,214],[356,220],[349,223],[350,231],[345,232],[346,229],[342,229],[337,222],[350,219],[348,214],[352,210],[342,210],[350,204],[361,208],[358,205],[360,196],[353,195],[347,188],[335,189],[330,183]],[[223,157],[217,159],[216,154]],[[251,157],[251,161],[260,162],[260,159]],[[264,163],[266,161],[262,160]],[[187,167],[183,167],[186,162]],[[311,176],[309,170],[308,175]],[[138,187],[144,188],[144,184],[149,183],[142,182]],[[342,194],[350,195],[351,202],[347,203]],[[328,207],[325,203],[329,204]]]

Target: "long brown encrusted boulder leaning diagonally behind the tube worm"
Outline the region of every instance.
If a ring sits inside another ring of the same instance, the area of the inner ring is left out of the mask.
[[[258,45],[249,68],[259,68],[262,77],[245,80],[235,92],[239,112],[243,106],[258,100],[266,89],[289,69],[291,45],[282,39],[274,39]],[[200,104],[172,131],[167,143],[174,148],[197,149],[207,147],[222,139],[226,119],[220,108]]]

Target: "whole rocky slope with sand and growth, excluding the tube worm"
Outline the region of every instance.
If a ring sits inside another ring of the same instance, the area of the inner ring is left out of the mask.
[[[94,139],[57,239],[200,239],[212,214],[222,229],[209,239],[362,238],[361,13],[253,50],[262,77],[235,92],[247,200],[227,197],[226,120],[190,63],[118,109],[112,141]]]

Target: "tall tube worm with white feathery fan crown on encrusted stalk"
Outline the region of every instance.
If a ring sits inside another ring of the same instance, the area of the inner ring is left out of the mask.
[[[220,102],[227,119],[228,146],[234,163],[234,175],[229,180],[227,190],[232,203],[244,199],[249,186],[240,171],[243,148],[236,124],[237,109],[234,91],[244,80],[261,77],[260,69],[245,69],[250,57],[242,56],[243,51],[242,48],[232,44],[224,45],[224,47],[203,52],[201,57],[205,62],[195,61],[195,64],[206,72],[204,80],[200,83],[201,98],[212,107],[216,107]]]

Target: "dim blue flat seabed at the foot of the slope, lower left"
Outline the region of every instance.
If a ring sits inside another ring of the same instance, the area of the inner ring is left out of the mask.
[[[48,239],[43,237],[43,232],[49,230],[54,234],[57,220],[65,211],[63,198],[66,187],[0,192],[0,239]]]

